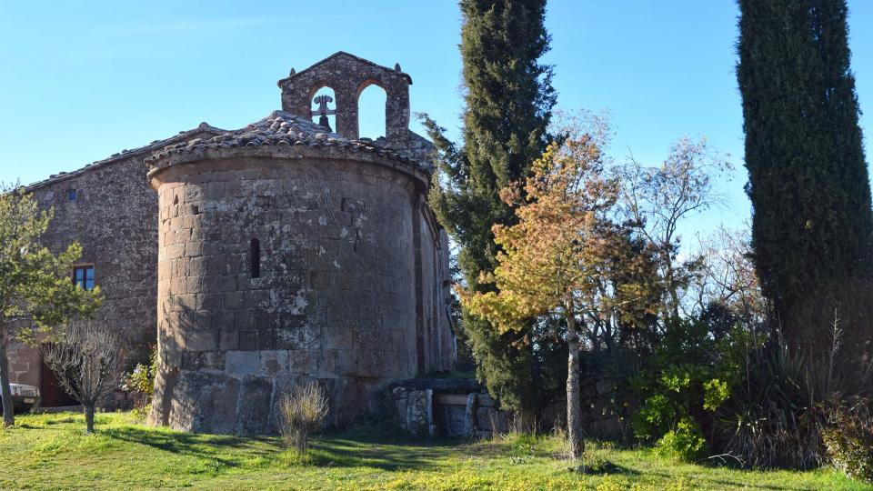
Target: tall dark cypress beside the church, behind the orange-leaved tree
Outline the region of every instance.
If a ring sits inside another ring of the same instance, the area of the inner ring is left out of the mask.
[[[430,202],[461,246],[458,265],[467,285],[476,286],[479,274],[496,266],[492,225],[513,220],[499,191],[527,175],[545,149],[556,95],[551,67],[538,61],[549,43],[546,0],[461,0],[460,9],[464,140],[457,148],[426,122],[442,155]],[[491,393],[511,409],[535,406],[532,332],[501,335],[467,314],[463,326]]]

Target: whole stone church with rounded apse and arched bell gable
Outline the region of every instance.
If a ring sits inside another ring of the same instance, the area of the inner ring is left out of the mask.
[[[204,123],[29,186],[55,208],[47,245],[83,246],[72,281],[100,286],[128,362],[158,346],[152,423],[265,433],[279,397],[316,380],[342,424],[379,413],[392,381],[451,368],[448,241],[411,84],[339,52],[280,80],[281,110],[252,125]],[[369,85],[386,92],[376,140],[358,135]],[[38,352],[14,347],[11,368],[65,404]]]

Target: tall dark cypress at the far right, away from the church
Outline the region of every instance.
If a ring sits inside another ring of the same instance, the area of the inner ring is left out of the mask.
[[[791,345],[826,340],[835,309],[853,344],[869,339],[873,216],[846,2],[739,6],[737,75],[764,293]]]

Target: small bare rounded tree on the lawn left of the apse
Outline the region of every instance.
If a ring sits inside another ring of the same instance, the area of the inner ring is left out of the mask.
[[[121,341],[114,330],[75,320],[63,336],[41,347],[45,365],[85,410],[85,433],[94,433],[94,410],[116,384]]]

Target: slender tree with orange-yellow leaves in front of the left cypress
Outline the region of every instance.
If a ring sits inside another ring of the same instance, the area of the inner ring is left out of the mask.
[[[494,226],[495,242],[502,249],[498,266],[493,274],[479,278],[480,283],[497,286],[497,292],[459,292],[470,312],[504,331],[524,328],[537,316],[566,321],[567,433],[572,458],[581,458],[585,450],[579,358],[588,319],[619,311],[619,305],[635,302],[645,288],[627,283],[603,295],[604,276],[617,273],[616,268],[632,272],[645,267],[627,259],[634,256],[627,254],[629,235],[612,219],[618,195],[619,183],[607,176],[601,150],[590,136],[550,145],[534,163],[530,177],[501,192],[515,209],[517,225]]]

